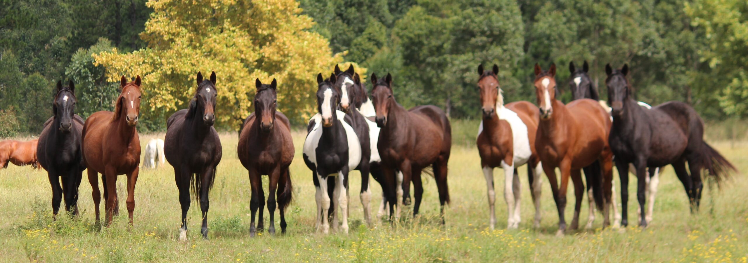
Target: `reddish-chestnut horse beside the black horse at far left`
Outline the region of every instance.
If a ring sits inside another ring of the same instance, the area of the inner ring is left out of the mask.
[[[88,182],[93,188],[93,207],[96,208],[96,223],[99,222],[98,173],[104,185],[106,225],[114,215],[120,213],[117,199],[117,176],[127,176],[127,217],[132,226],[132,211],[135,210],[135,183],[138,182],[140,164],[140,137],[138,114],[141,102],[141,78],[127,82],[120,78],[120,96],[114,104],[114,112],[97,111],[85,121],[82,131],[83,161],[88,168]]]

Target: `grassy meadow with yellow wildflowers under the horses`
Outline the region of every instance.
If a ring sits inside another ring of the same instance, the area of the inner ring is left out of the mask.
[[[470,131],[455,131],[470,134]],[[474,132],[474,131],[472,131]],[[458,135],[456,134],[456,135]],[[143,134],[146,143],[159,134]],[[162,136],[162,134],[160,134]],[[462,136],[462,135],[459,135]],[[705,186],[702,209],[688,211],[683,187],[672,168],[660,176],[654,221],[646,229],[599,229],[601,216],[591,231],[579,230],[556,237],[557,212],[548,180],[544,179],[542,226],[532,228],[533,205],[527,188],[527,170],[521,168],[522,223],[519,230],[506,227],[503,179],[496,176],[497,230],[488,230],[488,204],[479,156],[468,140],[456,138],[450,158],[452,203],[447,224],[437,223],[438,196],[433,179],[426,188],[422,214],[396,226],[378,221],[362,224],[358,198],[360,176],[352,173],[350,229],[348,235],[316,234],[314,187],[310,171],[301,160],[304,134],[295,132],[296,158],[291,167],[294,201],[286,211],[288,232],[249,237],[250,189],[247,171],[236,157],[236,133],[221,137],[224,155],[210,194],[209,241],[200,238],[200,209],[193,202],[188,215],[188,241],[177,241],[180,205],[174,170],[141,170],[135,193],[135,226],[127,226],[126,206],[120,205],[115,223],[98,231],[93,226],[93,202],[88,179],[83,179],[77,218],[52,221],[52,191],[43,170],[15,167],[0,170],[0,261],[22,262],[747,262],[748,179],[735,174],[720,191]],[[462,140],[467,143],[458,143]],[[711,142],[741,171],[748,170],[748,142]],[[497,172],[500,170],[497,170]],[[616,173],[617,174],[617,173]],[[85,175],[85,173],[84,173]],[[620,186],[618,176],[616,186]],[[117,181],[124,198],[126,179]],[[267,179],[263,180],[267,189]],[[632,179],[629,221],[636,222],[636,179]],[[376,211],[381,188],[373,184],[372,209]],[[569,189],[566,216],[573,212]],[[267,190],[266,190],[267,193]],[[619,199],[620,202],[620,199]],[[586,223],[586,197],[580,225]],[[103,202],[102,202],[103,211]],[[265,213],[267,219],[268,215]],[[267,220],[266,220],[267,222]],[[278,217],[276,227],[278,232]],[[266,223],[267,226],[267,223]]]

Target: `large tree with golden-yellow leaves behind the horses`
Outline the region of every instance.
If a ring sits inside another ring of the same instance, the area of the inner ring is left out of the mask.
[[[328,75],[343,61],[343,54],[332,54],[328,40],[310,31],[314,22],[293,0],[152,0],[147,5],[153,13],[141,33],[146,49],[93,55],[110,81],[142,76],[145,119],[186,108],[197,72],[215,71],[219,126],[238,129],[254,111],[255,78],[263,83],[276,78],[278,110],[303,123],[316,111],[317,73]]]

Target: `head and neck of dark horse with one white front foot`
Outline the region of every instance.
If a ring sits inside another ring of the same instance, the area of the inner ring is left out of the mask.
[[[203,80],[203,74],[197,72],[197,90],[189,103],[188,116],[194,117],[202,110],[203,123],[212,126],[215,123],[215,99],[218,91],[215,89],[215,71],[210,73],[210,80]]]

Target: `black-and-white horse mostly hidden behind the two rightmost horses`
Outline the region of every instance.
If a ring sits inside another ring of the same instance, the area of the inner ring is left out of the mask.
[[[568,63],[568,71],[571,73],[571,78],[568,81],[568,85],[571,89],[571,95],[573,99],[595,99],[596,101],[600,102],[600,105],[610,114],[610,111],[612,111],[612,108],[610,108],[607,105],[607,102],[600,99],[600,94],[598,93],[598,89],[595,88],[595,86],[592,84],[592,78],[589,78],[589,64],[587,64],[587,61],[584,61],[584,64],[582,65],[581,69],[578,69],[576,66],[574,66],[574,61],[571,61]],[[637,102],[638,105],[651,109],[652,106],[647,104],[646,102]],[[610,117],[610,120],[613,120],[613,117]],[[613,158],[616,158],[613,156]],[[631,168],[629,171],[634,174],[634,176],[637,175],[637,170],[633,168],[633,164],[631,165]],[[587,170],[585,170],[585,173],[587,173]],[[652,211],[654,211],[654,197],[657,195],[657,185],[660,184],[660,167],[654,167],[650,168],[647,172],[648,176],[645,176],[646,179],[646,195],[647,197],[652,200],[652,202],[649,202],[649,206],[646,211],[646,220],[647,223],[652,222]],[[587,221],[587,228],[592,228],[592,221],[595,220],[595,199],[592,199],[592,188],[590,188],[590,185],[587,185],[587,191],[588,191],[588,197],[589,197],[589,217]],[[613,185],[613,204],[617,204],[616,202],[616,185]],[[642,209],[639,208],[637,211],[638,214],[642,213]],[[616,205],[613,205],[613,226],[620,226],[621,223],[621,214],[618,212],[618,207]]]

